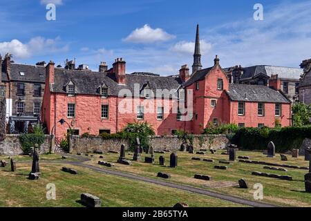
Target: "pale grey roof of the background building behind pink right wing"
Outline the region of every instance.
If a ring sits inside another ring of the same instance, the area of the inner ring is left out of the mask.
[[[243,79],[249,79],[256,77],[256,75],[263,74],[271,77],[271,75],[279,75],[279,78],[282,79],[293,79],[299,80],[301,74],[303,74],[303,69],[301,68],[288,68],[280,66],[267,66],[267,65],[258,65],[243,68],[244,73],[241,77]]]

